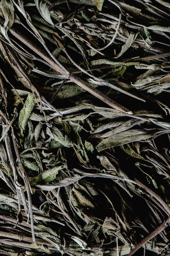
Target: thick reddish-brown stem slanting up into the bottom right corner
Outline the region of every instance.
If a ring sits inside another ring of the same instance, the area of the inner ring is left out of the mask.
[[[140,243],[138,243],[136,245],[135,248],[133,248],[131,250],[131,252],[126,255],[126,256],[131,256],[133,255],[141,246],[143,246],[144,244],[146,244],[149,240],[151,240],[152,238],[154,238],[157,234],[159,234],[160,232],[162,232],[166,227],[168,227],[168,225],[170,224],[170,217],[164,221],[158,228],[156,228],[152,233],[149,234],[149,236],[147,236],[146,238],[144,238]]]

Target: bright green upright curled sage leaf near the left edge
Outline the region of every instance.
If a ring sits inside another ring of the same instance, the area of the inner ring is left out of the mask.
[[[30,93],[27,96],[24,106],[19,113],[18,125],[20,129],[20,134],[22,137],[24,136],[24,131],[26,129],[28,118],[34,109],[35,104],[36,104],[36,100],[34,99],[34,95]]]

